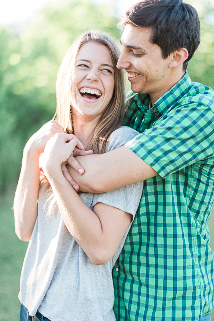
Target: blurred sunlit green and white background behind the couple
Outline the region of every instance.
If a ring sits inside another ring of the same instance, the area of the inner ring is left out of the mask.
[[[14,233],[11,208],[24,145],[54,115],[56,73],[72,41],[83,30],[99,28],[110,32],[119,44],[122,28],[116,24],[136,2],[8,0],[1,4],[0,321],[19,320],[17,295],[27,243]],[[193,81],[214,88],[214,1],[187,2],[201,20],[201,44],[187,70]],[[214,249],[214,213],[209,228]]]

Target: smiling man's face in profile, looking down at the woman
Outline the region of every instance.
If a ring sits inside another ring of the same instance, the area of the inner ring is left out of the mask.
[[[172,57],[163,59],[160,47],[149,42],[150,36],[151,28],[126,25],[117,68],[128,73],[132,91],[156,95],[166,85]]]

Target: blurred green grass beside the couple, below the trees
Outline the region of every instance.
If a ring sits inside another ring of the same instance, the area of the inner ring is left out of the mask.
[[[9,205],[0,209],[0,321],[18,321],[20,302],[19,279],[28,243],[20,241],[14,232],[14,218]],[[214,211],[210,221],[210,246],[214,249]],[[214,321],[214,312],[211,314]]]

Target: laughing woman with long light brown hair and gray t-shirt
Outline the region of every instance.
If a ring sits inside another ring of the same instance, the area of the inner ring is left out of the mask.
[[[21,273],[21,321],[115,320],[111,272],[143,183],[77,194],[63,171],[70,155],[104,153],[137,134],[121,127],[118,57],[105,33],[89,31],[76,39],[57,77],[57,122],[44,125],[25,146],[14,199],[15,231],[30,240]]]

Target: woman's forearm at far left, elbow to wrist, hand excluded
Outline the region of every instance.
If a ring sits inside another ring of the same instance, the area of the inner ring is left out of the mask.
[[[39,154],[27,144],[13,204],[15,232],[22,241],[30,240],[37,219],[39,175]]]

